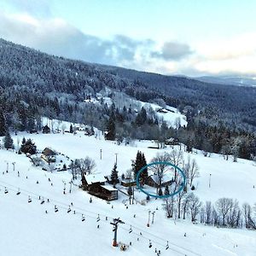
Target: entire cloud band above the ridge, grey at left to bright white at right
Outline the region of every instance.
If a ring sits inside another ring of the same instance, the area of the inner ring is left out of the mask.
[[[71,59],[164,74],[256,74],[256,33],[205,40],[190,47],[177,41],[159,45],[152,39],[120,34],[99,38],[65,20],[28,13],[14,15],[0,10],[0,24],[0,38]]]

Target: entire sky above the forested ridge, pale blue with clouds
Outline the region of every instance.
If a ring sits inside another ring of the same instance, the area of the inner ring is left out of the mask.
[[[256,77],[254,0],[0,0],[0,38],[164,74]]]

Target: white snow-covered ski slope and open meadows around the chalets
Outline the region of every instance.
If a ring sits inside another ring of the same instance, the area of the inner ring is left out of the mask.
[[[13,137],[15,143],[18,137],[20,141],[22,137],[31,137],[39,150],[51,147],[71,159],[88,155],[96,160],[96,172],[106,175],[113,169],[116,157],[120,175],[131,168],[131,160],[135,159],[137,150],[142,150],[149,162],[160,151],[172,149],[150,149],[150,142],[137,142],[132,147],[118,146],[106,142],[103,137],[85,137],[83,132],[77,135],[19,133]],[[236,198],[240,203],[255,202],[256,166],[252,161],[239,159],[233,163],[220,155],[204,157],[200,152],[189,155],[200,167],[201,176],[195,180],[195,194],[201,201],[216,201],[226,196]],[[185,159],[187,156],[184,154]],[[93,197],[90,203],[90,195],[76,186],[68,193],[71,180],[68,172],[44,172],[33,167],[24,154],[3,149],[0,150],[0,162],[1,255],[156,255],[155,248],[160,250],[160,255],[256,255],[255,231],[218,229],[191,224],[189,220],[169,219],[162,209],[163,201],[159,199],[150,200],[146,206],[134,204],[126,208],[127,197],[119,193],[119,201],[108,204]],[[64,183],[67,187],[65,195]],[[8,193],[5,193],[5,187]],[[20,195],[16,195],[19,189]],[[31,203],[28,203],[28,196]],[[43,200],[44,204],[41,204]],[[55,212],[55,206],[58,212]],[[69,207],[72,211],[67,213]],[[150,226],[147,227],[149,210],[155,212],[154,224],[151,224],[150,216]],[[81,221],[82,214],[84,222]],[[98,215],[99,222],[96,221]],[[127,245],[131,242],[125,252],[119,247],[112,247],[113,227],[110,221],[113,218],[121,218],[125,222],[119,224],[118,232],[118,241]],[[149,240],[152,243],[150,248]]]

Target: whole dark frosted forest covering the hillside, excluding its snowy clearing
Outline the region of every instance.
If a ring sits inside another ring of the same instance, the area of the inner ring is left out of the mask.
[[[143,73],[67,60],[0,39],[0,136],[41,129],[41,118],[63,119],[107,131],[107,139],[154,139],[164,145],[175,137],[204,152],[256,155],[256,89],[208,84],[183,77]],[[110,89],[110,90],[108,90]],[[103,101],[85,103],[99,92],[115,99],[123,92],[143,102],[178,108],[187,127],[168,127],[154,112]]]

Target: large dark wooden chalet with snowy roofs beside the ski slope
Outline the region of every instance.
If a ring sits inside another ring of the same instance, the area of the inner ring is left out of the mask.
[[[118,189],[114,189],[110,185],[106,185],[106,178],[102,174],[84,175],[82,184],[90,195],[102,198],[107,201],[118,199]]]

